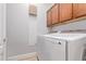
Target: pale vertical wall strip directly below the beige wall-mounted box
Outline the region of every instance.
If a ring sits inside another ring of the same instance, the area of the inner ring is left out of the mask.
[[[28,15],[28,44],[35,46],[37,39],[37,16]]]

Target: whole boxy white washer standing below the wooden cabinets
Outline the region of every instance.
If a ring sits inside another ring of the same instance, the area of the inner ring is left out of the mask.
[[[49,34],[38,37],[40,61],[82,61],[86,34]]]

